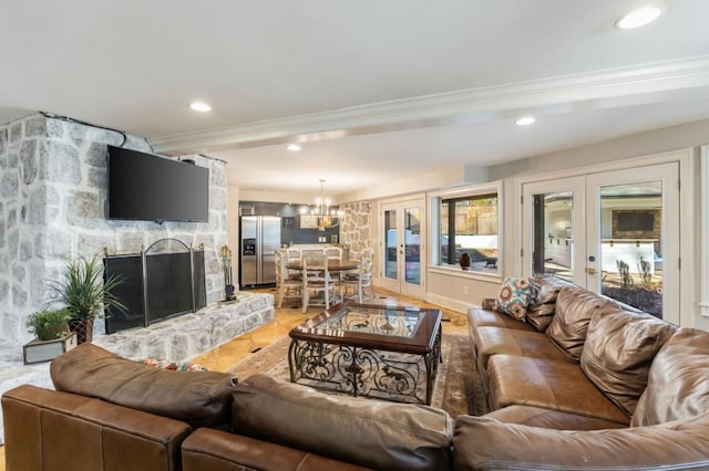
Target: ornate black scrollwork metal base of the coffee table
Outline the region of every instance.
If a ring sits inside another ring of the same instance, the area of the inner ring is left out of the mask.
[[[290,342],[290,380],[307,386],[400,402],[431,404],[441,359],[441,331],[425,355],[314,341]]]

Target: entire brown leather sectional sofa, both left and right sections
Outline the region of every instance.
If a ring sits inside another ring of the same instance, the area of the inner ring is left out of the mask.
[[[537,282],[524,322],[469,311],[484,416],[165,371],[88,344],[52,363],[56,391],[3,395],[7,469],[709,469],[709,333]]]

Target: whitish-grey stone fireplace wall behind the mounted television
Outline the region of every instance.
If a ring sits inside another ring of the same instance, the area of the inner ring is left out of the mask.
[[[125,143],[124,143],[125,140]],[[151,151],[144,138],[41,115],[0,126],[0,337],[23,344],[29,314],[47,302],[47,280],[68,260],[137,253],[163,238],[205,248],[207,304],[223,297],[219,248],[226,243],[226,164],[209,168],[209,222],[105,218],[106,145]],[[96,335],[104,333],[96,322]]]

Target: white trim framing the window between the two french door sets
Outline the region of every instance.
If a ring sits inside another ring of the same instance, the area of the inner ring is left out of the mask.
[[[503,182],[502,180],[490,181],[486,184],[479,185],[465,185],[460,187],[452,187],[446,189],[441,189],[438,191],[429,192],[429,214],[430,214],[430,224],[429,224],[429,271],[433,273],[442,273],[446,275],[455,275],[460,278],[474,279],[474,280],[501,280],[502,279],[502,264],[504,261],[504,231],[503,231],[503,221],[504,221],[504,192],[503,192]],[[451,199],[451,198],[463,198],[463,197],[474,197],[482,195],[497,195],[497,271],[496,273],[482,272],[476,270],[467,270],[462,271],[460,268],[455,268],[454,265],[441,265],[440,257],[439,257],[439,239],[441,232],[441,221],[440,221],[440,202],[442,199]]]

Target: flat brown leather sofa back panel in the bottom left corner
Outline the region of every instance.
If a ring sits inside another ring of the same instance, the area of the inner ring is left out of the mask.
[[[20,386],[2,396],[8,470],[178,470],[191,427],[70,393]]]

